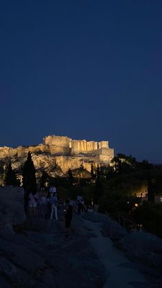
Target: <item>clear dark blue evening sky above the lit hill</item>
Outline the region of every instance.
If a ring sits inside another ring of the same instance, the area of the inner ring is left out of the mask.
[[[161,0],[0,5],[0,146],[68,135],[162,163]]]

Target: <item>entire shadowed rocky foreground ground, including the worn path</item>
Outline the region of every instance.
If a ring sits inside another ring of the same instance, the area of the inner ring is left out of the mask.
[[[157,258],[162,251],[161,239],[143,235],[145,241],[140,250],[143,239],[139,247],[137,240],[141,241],[142,234],[127,235],[119,225],[100,213],[82,216],[73,213],[72,225],[76,232],[71,231],[71,238],[67,239],[63,207],[58,212],[59,221],[28,217],[24,222],[21,190],[10,192],[9,188],[1,188],[0,192],[1,288],[161,287],[159,267],[162,265],[161,258]],[[6,201],[5,193],[8,193]],[[110,239],[112,234],[121,239],[118,247],[124,248],[125,252],[117,250]],[[127,251],[130,255],[131,250],[133,256],[144,258],[143,266],[126,258],[124,253]],[[149,267],[149,270],[147,255],[150,250],[149,261],[156,269]],[[146,272],[146,277],[137,268]],[[148,271],[152,278],[148,277]],[[155,280],[155,271],[159,282]]]

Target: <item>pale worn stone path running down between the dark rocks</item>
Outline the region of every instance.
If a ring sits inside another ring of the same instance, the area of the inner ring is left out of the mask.
[[[143,275],[131,267],[130,261],[113,246],[111,239],[102,236],[101,222],[84,219],[84,225],[86,230],[91,230],[95,234],[89,242],[106,269],[104,288],[147,287],[147,281]]]

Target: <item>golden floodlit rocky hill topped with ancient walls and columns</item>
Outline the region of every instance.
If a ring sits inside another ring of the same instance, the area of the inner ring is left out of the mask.
[[[37,175],[45,170],[51,176],[64,175],[69,168],[80,168],[81,162],[86,170],[91,171],[91,163],[106,166],[114,157],[114,149],[108,147],[108,141],[72,140],[67,136],[49,135],[43,139],[43,144],[0,147],[1,170],[11,159],[12,168],[19,174],[28,151],[32,153]]]

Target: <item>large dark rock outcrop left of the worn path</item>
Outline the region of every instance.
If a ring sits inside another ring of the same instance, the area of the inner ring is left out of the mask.
[[[0,287],[96,288],[104,285],[104,267],[86,236],[65,237],[64,215],[59,221],[23,214],[23,190],[0,190]],[[4,214],[3,214],[4,213]],[[81,220],[82,221],[82,220]],[[17,234],[12,225],[21,225]]]

